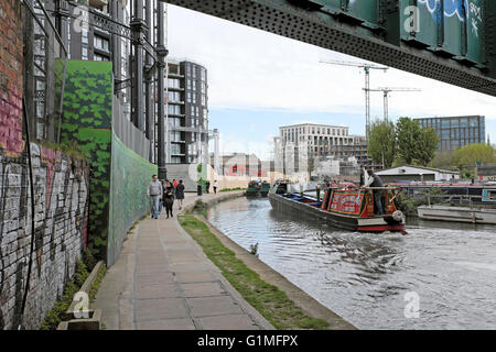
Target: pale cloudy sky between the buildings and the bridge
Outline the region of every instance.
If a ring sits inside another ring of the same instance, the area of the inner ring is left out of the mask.
[[[321,61],[364,61],[175,6],[168,6],[171,58],[207,68],[209,129],[220,132],[220,153],[273,156],[279,127],[322,123],[365,134],[362,69]],[[391,92],[389,118],[481,114],[496,141],[496,98],[390,68],[373,70],[370,88]],[[382,94],[371,92],[371,119],[381,118]],[[213,151],[213,143],[211,143]]]

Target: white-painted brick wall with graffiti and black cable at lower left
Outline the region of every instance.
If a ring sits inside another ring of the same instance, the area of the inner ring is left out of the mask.
[[[33,233],[33,266],[23,319],[28,329],[36,329],[62,297],[85,246],[88,165],[36,144],[31,148],[34,215],[28,153],[13,157],[0,150],[0,330],[17,329],[21,322]]]

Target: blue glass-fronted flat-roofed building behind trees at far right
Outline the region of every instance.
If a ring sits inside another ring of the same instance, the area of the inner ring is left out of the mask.
[[[485,117],[445,117],[416,119],[421,128],[432,128],[439,135],[438,151],[452,152],[468,144],[485,143]]]

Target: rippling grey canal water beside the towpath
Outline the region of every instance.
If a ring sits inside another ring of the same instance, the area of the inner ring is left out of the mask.
[[[417,222],[406,237],[360,234],[244,197],[207,217],[242,248],[258,243],[262,262],[358,329],[496,329],[496,227]]]

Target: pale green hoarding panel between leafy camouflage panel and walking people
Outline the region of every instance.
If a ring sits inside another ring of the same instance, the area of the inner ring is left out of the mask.
[[[108,265],[115,263],[128,230],[150,209],[147,187],[157,165],[128,148],[112,134]]]

